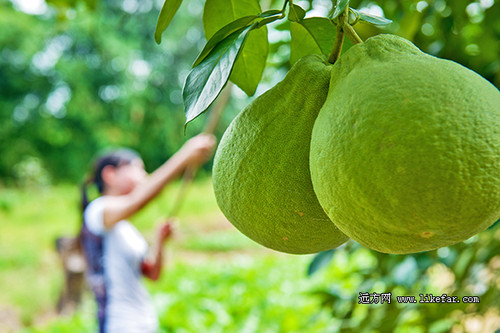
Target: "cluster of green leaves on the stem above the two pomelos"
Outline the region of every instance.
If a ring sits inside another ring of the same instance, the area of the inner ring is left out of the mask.
[[[155,30],[157,43],[161,42],[162,33],[180,3],[180,0],[165,0]],[[207,0],[203,14],[207,43],[184,83],[186,124],[209,108],[229,79],[247,95],[255,93],[266,66],[268,38],[265,28],[268,24],[285,17],[291,22],[291,60],[294,62],[304,53],[311,53],[311,49],[325,55],[331,52],[334,24],[338,24],[344,11],[352,13],[353,23],[365,21],[384,25],[391,22],[351,10],[348,4],[348,0],[338,0],[330,17],[306,19],[306,10],[289,0],[284,1],[281,10],[266,11],[261,10],[258,0]],[[309,45],[305,47],[306,43]]]

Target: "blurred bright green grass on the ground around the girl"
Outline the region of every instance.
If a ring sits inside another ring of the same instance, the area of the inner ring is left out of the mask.
[[[178,188],[172,184],[132,219],[146,238],[168,215]],[[17,318],[0,331],[95,327],[90,294],[74,316],[55,315],[63,285],[55,239],[76,234],[79,200],[73,185],[1,190],[0,312],[9,309]],[[306,326],[322,332],[331,323],[307,292],[311,257],[279,254],[239,233],[219,211],[210,179],[191,186],[178,219],[164,274],[146,281],[164,332],[303,332]]]

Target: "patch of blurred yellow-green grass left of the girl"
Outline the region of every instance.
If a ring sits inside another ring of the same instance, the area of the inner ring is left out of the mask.
[[[57,299],[62,274],[55,239],[77,230],[77,193],[68,186],[4,188],[0,203],[0,304],[30,325]]]

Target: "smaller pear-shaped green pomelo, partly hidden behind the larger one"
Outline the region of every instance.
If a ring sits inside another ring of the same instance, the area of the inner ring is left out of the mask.
[[[298,61],[232,121],[215,154],[220,209],[243,234],[277,251],[314,253],[348,239],[321,208],[309,172],[312,127],[331,67],[319,56]]]

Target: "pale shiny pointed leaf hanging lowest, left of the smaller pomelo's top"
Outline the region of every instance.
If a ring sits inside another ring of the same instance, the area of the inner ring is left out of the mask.
[[[252,28],[244,27],[230,34],[189,72],[182,91],[186,124],[205,112],[224,88]]]

